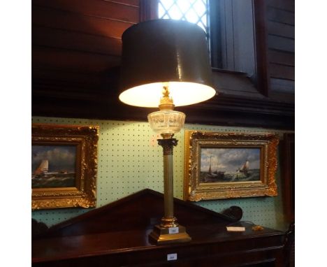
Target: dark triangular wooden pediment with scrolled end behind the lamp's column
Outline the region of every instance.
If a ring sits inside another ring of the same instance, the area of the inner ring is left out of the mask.
[[[242,210],[233,207],[224,214],[202,208],[194,203],[174,199],[174,214],[184,226],[198,224],[230,224],[242,217]],[[234,210],[237,212],[233,214]],[[238,214],[237,214],[238,213]],[[123,199],[68,219],[38,234],[36,238],[78,236],[136,229],[152,229],[163,216],[163,194],[151,189],[126,196]]]

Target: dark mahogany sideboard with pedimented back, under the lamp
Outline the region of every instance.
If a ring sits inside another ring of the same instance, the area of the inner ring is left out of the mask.
[[[174,205],[189,243],[150,243],[163,196],[145,189],[34,235],[32,266],[285,266],[286,233],[253,231],[252,224],[238,222],[238,209],[217,213],[179,199]],[[228,232],[228,224],[246,231]]]

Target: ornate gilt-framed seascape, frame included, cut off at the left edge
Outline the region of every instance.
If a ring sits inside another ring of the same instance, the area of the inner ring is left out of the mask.
[[[98,126],[32,124],[31,208],[96,205]]]

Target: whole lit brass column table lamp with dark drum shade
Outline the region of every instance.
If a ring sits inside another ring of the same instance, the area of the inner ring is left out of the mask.
[[[164,215],[150,240],[157,244],[187,242],[191,238],[173,212],[173,138],[184,126],[184,113],[173,110],[215,96],[205,32],[182,20],[149,20],[122,35],[122,92],[120,101],[159,111],[147,118],[160,133],[163,147]]]

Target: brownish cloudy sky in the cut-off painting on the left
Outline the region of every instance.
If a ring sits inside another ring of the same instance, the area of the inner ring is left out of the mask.
[[[32,145],[31,172],[43,159],[49,161],[49,171],[75,171],[76,147],[74,145]]]

